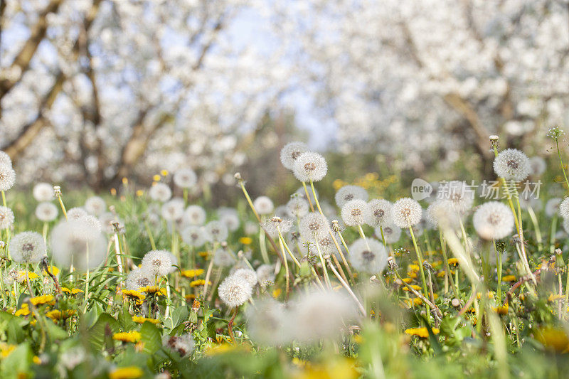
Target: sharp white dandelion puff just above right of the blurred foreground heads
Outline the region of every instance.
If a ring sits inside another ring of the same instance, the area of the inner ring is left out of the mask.
[[[383,243],[371,238],[358,238],[350,246],[350,263],[360,272],[379,274],[387,265],[387,257]]]

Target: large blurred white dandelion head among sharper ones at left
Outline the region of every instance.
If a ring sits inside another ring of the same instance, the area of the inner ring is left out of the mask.
[[[53,260],[59,265],[85,271],[94,269],[107,256],[107,241],[85,220],[64,220],[51,231]]]

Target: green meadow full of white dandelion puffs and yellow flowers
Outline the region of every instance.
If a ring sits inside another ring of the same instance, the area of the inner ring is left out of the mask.
[[[217,209],[190,168],[24,191],[1,153],[0,375],[564,378],[569,198],[551,193],[569,181],[548,137],[558,164],[489,136],[491,199],[469,178],[325,198],[325,157],[291,142],[288,201],[235,173],[241,200]]]

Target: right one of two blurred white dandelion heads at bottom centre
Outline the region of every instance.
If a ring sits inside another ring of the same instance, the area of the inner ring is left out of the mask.
[[[344,322],[354,316],[351,299],[341,292],[311,292],[302,294],[292,305],[288,319],[299,342],[337,338]]]

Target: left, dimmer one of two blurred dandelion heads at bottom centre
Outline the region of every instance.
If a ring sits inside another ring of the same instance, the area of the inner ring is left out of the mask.
[[[266,297],[255,300],[245,312],[247,331],[255,343],[262,346],[280,346],[292,340],[288,331],[285,306],[275,299]]]

